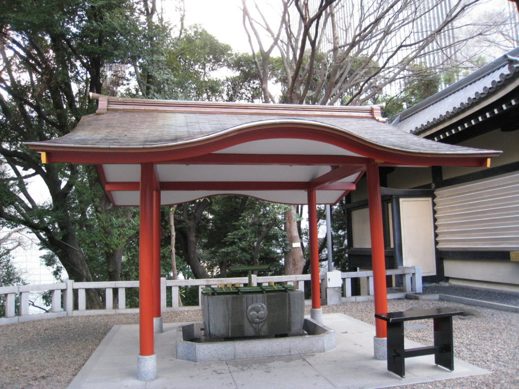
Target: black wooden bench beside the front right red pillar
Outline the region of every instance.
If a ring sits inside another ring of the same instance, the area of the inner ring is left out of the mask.
[[[453,316],[463,311],[452,308],[433,308],[403,312],[375,314],[387,322],[388,370],[405,377],[405,358],[434,354],[434,363],[450,371],[454,370]],[[411,320],[433,319],[434,345],[404,349],[404,322]]]

